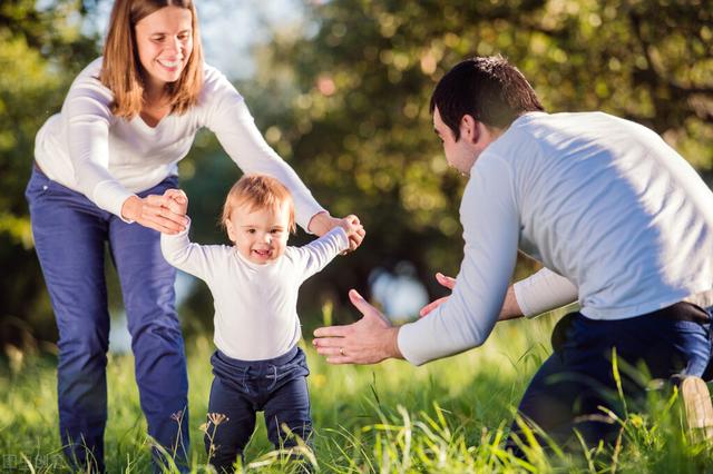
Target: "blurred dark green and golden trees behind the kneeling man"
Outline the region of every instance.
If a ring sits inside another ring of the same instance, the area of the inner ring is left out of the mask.
[[[335,215],[358,214],[363,247],[303,290],[365,289],[377,266],[458,271],[458,203],[428,111],[459,60],[501,53],[549,111],[600,109],[642,122],[703,174],[713,168],[713,4],[709,0],[305,1],[241,85],[267,140]],[[196,175],[196,179],[201,179]],[[520,261],[521,276],[533,264]],[[306,298],[306,299],[305,299]],[[311,299],[311,302],[310,302]]]

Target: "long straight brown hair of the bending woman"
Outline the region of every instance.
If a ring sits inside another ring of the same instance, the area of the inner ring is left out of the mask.
[[[193,0],[116,0],[104,46],[99,80],[114,93],[111,112],[131,119],[144,105],[144,69],[138,58],[135,27],[143,18],[164,7],[191,10],[193,51],[180,78],[166,85],[172,112],[185,113],[198,102],[203,87],[203,48],[198,32],[198,16]]]

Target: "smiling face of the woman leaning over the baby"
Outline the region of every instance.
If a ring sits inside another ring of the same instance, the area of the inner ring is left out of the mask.
[[[180,78],[193,51],[191,10],[164,7],[136,23],[136,45],[149,92]]]

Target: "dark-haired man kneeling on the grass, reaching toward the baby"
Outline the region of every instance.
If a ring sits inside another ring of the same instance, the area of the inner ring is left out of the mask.
[[[602,112],[554,113],[501,57],[462,61],[431,98],[450,166],[469,176],[460,207],[465,256],[447,300],[390,327],[356,292],[364,317],[316,329],[334,364],[412,364],[481,345],[498,319],[579,303],[560,347],[527,388],[519,414],[565,442],[612,433],[599,406],[622,414],[612,374],[644,363],[651,376],[701,376],[711,354],[713,194],[656,134]],[[518,250],[545,269],[508,288]],[[622,374],[624,392],[643,393]],[[713,424],[704,393],[704,422]],[[614,395],[614,396],[613,396]]]

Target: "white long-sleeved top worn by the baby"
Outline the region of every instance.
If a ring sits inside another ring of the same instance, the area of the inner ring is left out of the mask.
[[[228,357],[263,361],[285,354],[300,340],[300,285],[346,250],[349,238],[335,227],[303,247],[287,247],[265,265],[248,261],[233,246],[193,244],[188,228],[162,234],[160,247],[169,264],[211,288],[216,347]]]

